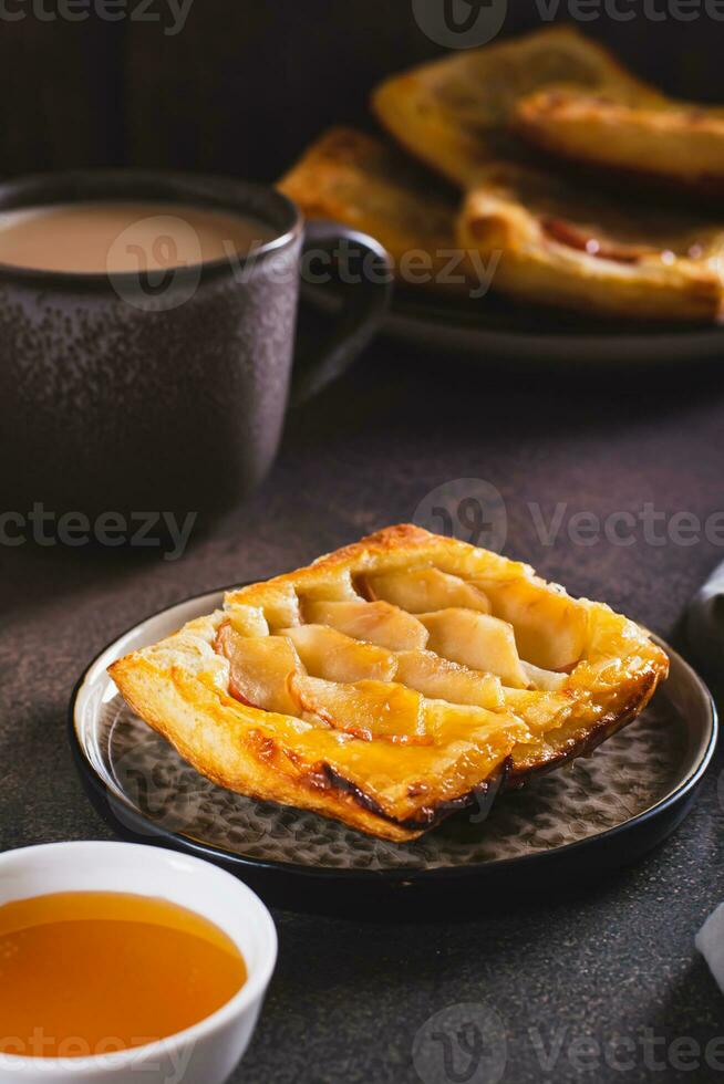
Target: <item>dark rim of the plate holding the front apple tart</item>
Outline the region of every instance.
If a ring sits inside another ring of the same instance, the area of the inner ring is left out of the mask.
[[[247,583],[251,581],[247,581]],[[90,671],[106,652],[108,652],[118,640],[133,633],[139,625],[143,625],[155,617],[161,617],[169,611],[175,609],[177,606],[184,606],[189,603],[200,601],[201,598],[219,595],[226,591],[245,585],[245,583],[235,583],[228,584],[224,587],[213,588],[210,591],[201,591],[189,595],[188,597],[180,598],[178,602],[172,603],[168,606],[164,606],[162,609],[153,611],[146,617],[142,617],[134,622],[123,632],[118,633],[111,640],[108,640],[108,643],[101,648],[101,650],[97,652],[90,663],[83,668],[83,671],[73,687],[69,702],[69,741],[73,753],[73,761],[84,785],[86,789],[90,789],[91,793],[105,800],[112,815],[114,815],[113,805],[122,805],[124,803],[116,794],[111,792],[106,783],[93,769],[93,765],[90,763],[84,752],[83,744],[75,726],[75,709],[77,706],[77,699]],[[634,833],[638,828],[651,824],[652,821],[655,821],[659,817],[664,817],[665,814],[673,814],[676,806],[686,803],[687,800],[692,801],[706,773],[706,770],[710,767],[712,757],[714,755],[714,750],[718,738],[718,713],[716,710],[716,703],[714,702],[714,698],[707,685],[699,676],[699,674],[696,674],[693,667],[674,648],[671,647],[671,645],[655,634],[652,633],[651,635],[668,653],[674,656],[686,670],[691,671],[694,681],[700,685],[701,690],[704,692],[705,700],[710,709],[709,738],[696,767],[670,794],[666,794],[661,801],[656,802],[648,810],[637,813],[637,815],[630,820],[623,821],[621,824],[613,825],[613,827],[607,828],[604,832],[588,836],[583,840],[576,840],[573,843],[566,843],[562,846],[551,847],[547,851],[537,851],[534,854],[518,855],[509,858],[495,858],[490,862],[470,863],[469,865],[435,866],[431,869],[348,869],[339,868],[337,866],[309,866],[301,863],[280,862],[269,858],[252,858],[249,856],[239,855],[235,852],[224,851],[220,847],[215,847],[211,844],[195,840],[193,836],[164,828],[154,823],[152,820],[145,817],[141,812],[138,812],[138,810],[134,809],[134,806],[127,803],[126,809],[130,811],[130,819],[143,824],[144,830],[151,833],[154,842],[157,844],[159,843],[162,845],[172,846],[176,850],[186,851],[196,855],[197,857],[200,856],[210,858],[217,863],[226,865],[227,867],[238,869],[239,872],[245,869],[250,872],[261,871],[268,874],[280,875],[283,877],[292,876],[317,883],[327,880],[351,884],[356,882],[368,885],[385,884],[401,886],[416,883],[430,884],[445,880],[467,879],[469,877],[483,877],[488,875],[495,876],[498,873],[503,874],[506,871],[511,869],[520,871],[523,873],[524,871],[529,871],[531,867],[541,865],[546,862],[560,861],[563,857],[566,859],[571,857],[575,858],[575,856],[581,852],[591,851],[594,847],[606,846],[607,844],[616,841],[618,836]],[[105,807],[103,807],[103,813],[105,819],[108,820],[108,817],[105,815]],[[110,823],[114,830],[116,830],[115,821],[113,820]],[[672,823],[672,830],[678,823],[679,819]],[[668,835],[669,833],[666,832],[664,834]]]

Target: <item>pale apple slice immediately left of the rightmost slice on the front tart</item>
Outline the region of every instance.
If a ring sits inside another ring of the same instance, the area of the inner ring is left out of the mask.
[[[497,674],[504,685],[514,689],[528,687],[513,625],[489,614],[457,608],[422,614],[420,621],[430,633],[431,652],[473,670]]]

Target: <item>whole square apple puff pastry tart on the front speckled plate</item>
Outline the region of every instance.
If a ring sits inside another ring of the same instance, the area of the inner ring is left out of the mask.
[[[527,565],[403,525],[229,592],[110,673],[216,783],[408,841],[589,752],[668,659]]]

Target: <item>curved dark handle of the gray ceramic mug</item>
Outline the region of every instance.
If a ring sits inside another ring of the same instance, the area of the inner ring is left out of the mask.
[[[314,221],[307,222],[304,244],[302,249],[303,267],[310,254],[319,250],[330,258],[325,268],[333,267],[334,256],[341,246],[347,250],[356,250],[361,257],[355,267],[364,268],[373,273],[356,271],[360,281],[350,290],[341,312],[335,316],[335,324],[329,337],[322,343],[313,362],[306,364],[302,369],[294,369],[289,396],[290,406],[298,407],[337,381],[351,366],[377,331],[390,306],[392,296],[392,267],[385,249],[366,233],[348,229],[339,222]],[[339,269],[338,269],[338,278]],[[332,273],[331,278],[334,278]],[[343,280],[342,280],[343,281]],[[304,278],[302,270],[302,288]],[[318,293],[319,285],[314,286]]]

